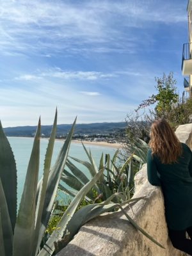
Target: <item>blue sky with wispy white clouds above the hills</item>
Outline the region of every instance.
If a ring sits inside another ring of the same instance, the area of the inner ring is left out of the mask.
[[[0,4],[3,127],[122,122],[173,72],[184,90],[188,0],[6,0]]]

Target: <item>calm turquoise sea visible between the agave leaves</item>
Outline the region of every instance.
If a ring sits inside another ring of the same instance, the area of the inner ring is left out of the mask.
[[[15,156],[15,161],[17,165],[17,203],[20,202],[20,198],[22,195],[22,189],[24,186],[24,181],[26,177],[26,171],[28,168],[28,161],[29,157],[31,154],[31,150],[33,147],[33,138],[19,138],[19,137],[8,137],[8,140],[10,141],[10,145],[13,150],[13,154]],[[44,168],[44,157],[45,157],[45,152],[47,149],[47,143],[48,140],[42,139],[40,141],[40,174],[39,174],[39,179],[42,177],[42,172]],[[58,156],[58,153],[60,152],[60,149],[63,145],[63,141],[55,141],[54,145],[54,153],[52,157],[52,165],[54,164],[54,161],[56,161],[56,157]],[[86,148],[90,149],[92,151],[93,158],[95,159],[97,166],[99,165],[99,160],[102,152],[104,154],[110,154],[113,156],[115,154],[116,148],[111,148],[111,147],[101,147],[97,145],[85,145]],[[69,150],[69,156],[76,157],[81,160],[88,160],[86,153],[84,152],[83,146],[81,143],[71,143],[70,145],[70,150]],[[89,176],[88,171],[86,168],[74,162],[78,168],[83,170],[86,175]],[[62,195],[61,200],[62,200]],[[63,195],[63,200],[65,200],[65,195]]]

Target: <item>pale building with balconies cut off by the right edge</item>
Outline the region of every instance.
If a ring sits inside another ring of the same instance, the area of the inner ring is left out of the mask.
[[[192,0],[188,1],[188,43],[183,45],[182,50],[182,75],[184,76],[184,88],[192,93]]]

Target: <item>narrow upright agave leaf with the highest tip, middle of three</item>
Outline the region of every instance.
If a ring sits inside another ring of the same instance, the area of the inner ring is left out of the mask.
[[[56,113],[54,116],[54,124],[52,125],[51,136],[50,136],[46,154],[45,154],[44,174],[43,174],[42,182],[40,182],[41,187],[40,187],[40,193],[38,194],[40,196],[38,196],[38,203],[37,203],[37,207],[36,207],[35,237],[34,237],[34,241],[33,241],[33,252],[35,253],[35,255],[38,251],[38,248],[40,247],[40,243],[43,238],[42,236],[40,236],[40,226],[42,225],[42,223],[41,223],[42,212],[44,209],[47,181],[49,178],[52,152],[53,152],[53,148],[54,148],[54,140],[56,137],[57,116],[58,116],[58,113],[57,113],[57,109],[56,109]]]

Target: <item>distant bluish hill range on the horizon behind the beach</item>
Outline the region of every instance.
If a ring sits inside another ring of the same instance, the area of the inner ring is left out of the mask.
[[[62,136],[70,131],[72,124],[59,124],[57,126],[57,136]],[[125,129],[125,122],[111,123],[93,123],[93,124],[76,124],[75,134],[109,134]],[[49,136],[52,125],[42,125],[42,134]],[[4,128],[7,136],[33,136],[36,126],[17,126]]]

